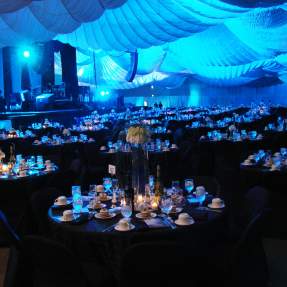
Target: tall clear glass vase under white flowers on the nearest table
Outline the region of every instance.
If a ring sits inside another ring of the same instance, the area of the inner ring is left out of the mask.
[[[132,145],[132,188],[135,194],[145,194],[145,185],[149,176],[148,151],[144,145]]]

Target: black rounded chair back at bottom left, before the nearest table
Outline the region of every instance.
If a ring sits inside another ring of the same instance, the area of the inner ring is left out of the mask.
[[[81,265],[64,245],[40,236],[28,236],[22,242],[31,286],[87,286]]]

